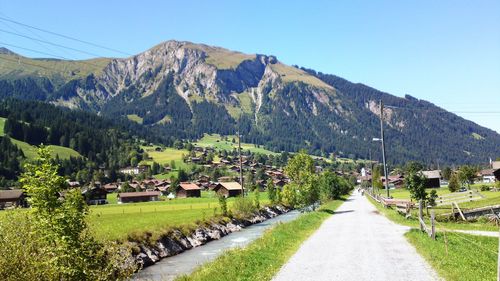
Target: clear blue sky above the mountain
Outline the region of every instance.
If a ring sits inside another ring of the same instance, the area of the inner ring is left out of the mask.
[[[169,39],[272,54],[500,132],[500,1],[0,0],[0,16],[131,54]],[[1,21],[0,29],[121,56]],[[88,57],[2,32],[0,42]]]

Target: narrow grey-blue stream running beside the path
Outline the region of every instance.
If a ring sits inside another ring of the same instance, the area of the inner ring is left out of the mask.
[[[233,232],[219,240],[165,258],[137,272],[132,277],[132,280],[174,280],[183,274],[193,272],[198,266],[214,260],[227,250],[246,246],[261,237],[267,229],[278,223],[292,221],[299,215],[299,211],[293,210],[264,222],[248,226],[238,232]]]

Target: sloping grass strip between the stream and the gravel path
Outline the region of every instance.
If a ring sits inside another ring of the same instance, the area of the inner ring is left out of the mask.
[[[331,201],[316,212],[280,224],[242,249],[228,251],[213,262],[177,280],[271,280],[321,223],[342,204]]]

